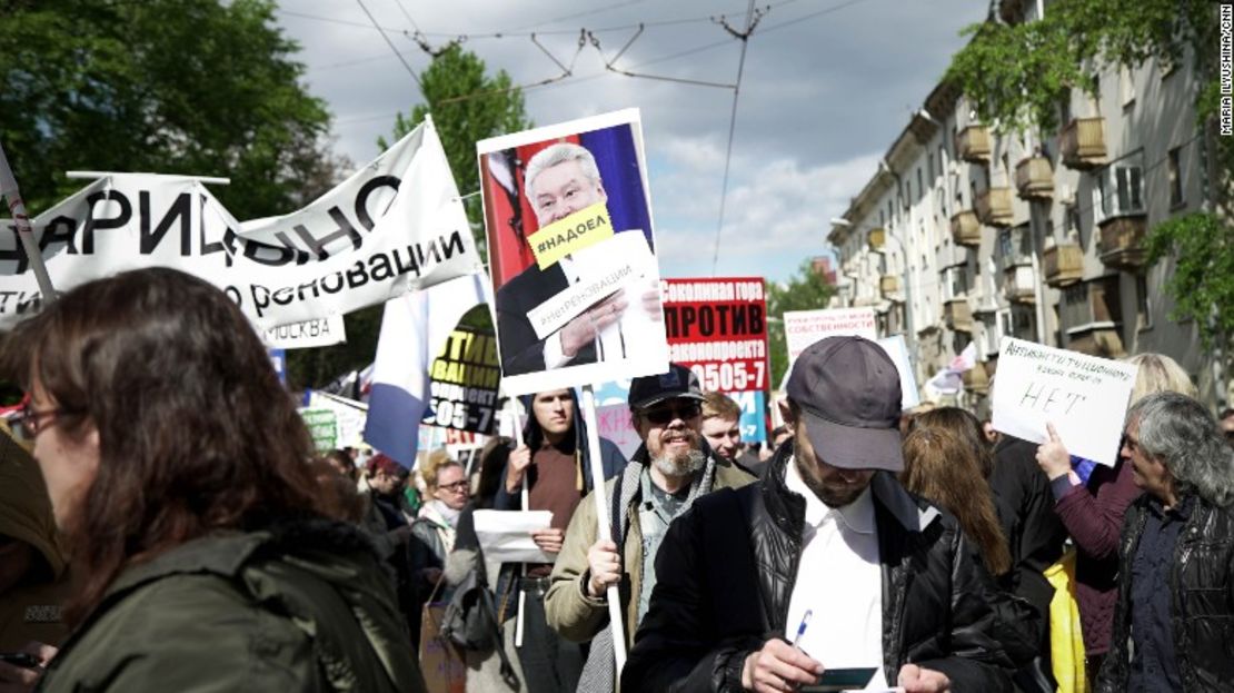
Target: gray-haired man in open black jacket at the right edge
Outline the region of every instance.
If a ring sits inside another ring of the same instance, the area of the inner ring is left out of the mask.
[[[1118,607],[1097,691],[1229,691],[1234,450],[1202,404],[1169,392],[1132,408],[1123,440],[1145,493],[1123,525]]]

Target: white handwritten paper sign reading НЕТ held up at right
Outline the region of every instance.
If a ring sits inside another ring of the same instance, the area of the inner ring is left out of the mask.
[[[1071,455],[1113,467],[1135,367],[1004,337],[995,383],[995,430],[1045,442],[1045,424]]]

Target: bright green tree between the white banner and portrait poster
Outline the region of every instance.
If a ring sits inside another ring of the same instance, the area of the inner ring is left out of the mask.
[[[485,70],[484,61],[475,53],[464,51],[458,43],[449,44],[433,57],[432,64],[420,75],[427,104],[417,104],[410,117],[400,112],[394,124],[394,138],[397,140],[432,112],[445,158],[463,195],[480,188],[475,143],[532,126],[523,110],[523,93],[511,83],[506,70],[497,70],[494,77],[486,75]],[[387,146],[385,138],[379,138],[378,145],[381,148]],[[480,196],[466,198],[464,206],[476,245],[484,252]]]

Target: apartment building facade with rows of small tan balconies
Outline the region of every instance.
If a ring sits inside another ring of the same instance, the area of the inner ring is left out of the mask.
[[[1038,2],[1003,2],[1033,21]],[[1195,324],[1169,314],[1172,262],[1145,235],[1206,204],[1204,141],[1188,64],[1097,75],[1051,133],[1000,133],[939,84],[888,147],[828,240],[842,305],[903,332],[918,383],[976,342],[963,404],[981,409],[1004,336],[1119,358],[1174,357],[1211,404],[1230,401]]]

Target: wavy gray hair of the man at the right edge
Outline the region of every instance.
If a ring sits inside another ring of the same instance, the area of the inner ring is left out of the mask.
[[[1170,469],[1175,488],[1227,506],[1234,503],[1234,448],[1225,442],[1212,413],[1195,399],[1172,392],[1150,394],[1127,413],[1139,421],[1139,447]]]

